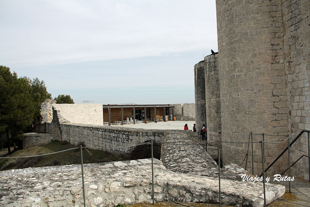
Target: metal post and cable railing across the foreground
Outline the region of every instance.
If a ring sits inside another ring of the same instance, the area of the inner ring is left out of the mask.
[[[144,144],[149,144],[151,143],[151,164],[152,164],[152,201],[153,201],[153,205],[155,203],[155,199],[154,199],[154,164],[153,164],[153,143],[158,143],[158,144],[167,144],[167,145],[185,145],[185,146],[189,146],[189,145],[199,145],[199,146],[202,146],[204,144],[211,144],[211,143],[217,143],[217,151],[218,151],[218,161],[220,162],[220,144],[221,143],[235,143],[235,144],[245,144],[245,143],[248,143],[248,144],[252,144],[252,174],[254,173],[254,169],[253,169],[253,143],[261,143],[261,151],[262,151],[262,168],[263,168],[263,173],[259,176],[263,176],[263,194],[264,194],[264,206],[266,206],[266,189],[265,189],[265,176],[264,176],[264,173],[270,168],[270,166],[265,170],[265,167],[264,167],[264,164],[265,164],[265,159],[264,159],[264,143],[270,143],[270,144],[280,144],[280,143],[283,143],[285,141],[288,142],[288,147],[286,150],[289,151],[289,167],[288,167],[288,170],[289,170],[289,176],[290,176],[290,146],[301,136],[301,134],[303,132],[308,132],[308,143],[309,143],[309,130],[303,130],[299,135],[298,137],[296,137],[294,139],[293,142],[289,143],[289,138],[288,138],[288,135],[270,135],[270,136],[285,136],[287,137],[284,141],[281,141],[281,142],[265,142],[264,141],[264,136],[266,136],[267,134],[254,134],[254,133],[250,133],[250,136],[249,136],[249,139],[251,137],[251,142],[226,142],[226,141],[217,141],[217,142],[203,142],[203,143],[183,143],[183,144],[179,144],[179,143],[173,143],[173,142],[153,142],[153,140],[150,140],[150,142],[144,142],[144,143],[141,143],[141,144],[137,144],[137,145],[132,145],[132,146],[124,146],[124,147],[75,147],[75,148],[71,148],[71,149],[67,149],[67,150],[64,150],[64,151],[69,151],[69,150],[73,150],[73,149],[78,149],[80,148],[80,151],[81,151],[81,171],[82,171],[82,189],[83,189],[83,200],[84,200],[84,207],[86,207],[86,199],[85,199],[85,187],[84,187],[84,167],[83,167],[83,153],[82,153],[82,149],[83,148],[90,148],[90,149],[100,149],[100,150],[105,150],[105,149],[121,149],[121,148],[131,148],[131,147],[135,147],[135,146],[139,146],[139,145],[144,145]],[[258,141],[258,142],[253,142],[253,135],[262,135],[263,136],[263,140],[261,141]],[[308,145],[309,146],[309,145]],[[309,149],[309,147],[308,147]],[[285,150],[285,151],[286,151]],[[26,157],[35,157],[35,156],[44,156],[44,155],[50,155],[50,154],[55,154],[55,153],[60,153],[60,152],[64,152],[64,151],[58,151],[58,152],[53,152],[53,153],[47,153],[47,154],[41,154],[41,155],[30,155],[30,156],[22,156],[22,157],[0,157],[0,159],[8,159],[8,158],[26,158]],[[284,151],[284,152],[285,152]],[[281,153],[281,155],[284,154]],[[309,154],[310,150],[308,151],[308,154]],[[248,155],[246,155],[247,157]],[[304,155],[306,156],[306,155]],[[308,159],[310,159],[310,156],[306,156],[308,157]],[[301,158],[300,158],[301,159]],[[277,159],[276,159],[277,160]],[[276,161],[275,160],[275,161]],[[275,162],[274,161],[274,162]],[[298,161],[298,160],[297,160]],[[296,161],[296,162],[297,162]],[[295,163],[296,163],[295,162]],[[294,164],[295,164],[294,163]],[[310,162],[309,162],[310,163]],[[221,168],[220,168],[220,164],[218,164],[218,170],[219,170],[219,205],[221,206]],[[286,170],[287,171],[287,170]],[[285,172],[286,172],[285,171]],[[289,181],[290,182],[290,181]],[[290,183],[289,183],[289,186],[290,186]]]

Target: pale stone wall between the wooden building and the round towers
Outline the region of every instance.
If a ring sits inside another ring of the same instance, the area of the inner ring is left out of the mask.
[[[179,121],[195,121],[195,104],[172,104],[174,106],[173,114],[176,120]],[[172,114],[172,109],[169,108],[169,114]]]

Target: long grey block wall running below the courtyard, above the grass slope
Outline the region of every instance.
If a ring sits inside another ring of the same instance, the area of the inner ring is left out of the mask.
[[[165,130],[135,129],[122,127],[109,127],[88,124],[60,124],[62,140],[78,145],[83,142],[87,147],[125,147],[141,144],[147,140],[162,141]],[[121,149],[108,149],[113,154],[126,155],[130,147]]]

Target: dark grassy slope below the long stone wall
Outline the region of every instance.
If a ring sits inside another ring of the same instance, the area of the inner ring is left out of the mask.
[[[83,145],[79,143],[79,146]],[[52,152],[63,151],[79,146],[74,146],[66,142],[53,141],[45,145],[35,146],[28,149],[18,150],[12,153],[11,157],[21,157],[29,155],[42,155]],[[113,162],[121,160],[131,160],[130,157],[113,155],[102,150],[83,149],[83,163],[100,163],[100,162]],[[44,155],[30,158],[12,158],[12,159],[0,159],[0,170],[8,169],[22,169],[28,167],[43,167],[43,166],[55,166],[66,164],[81,164],[81,153],[78,150],[69,150],[52,155]]]

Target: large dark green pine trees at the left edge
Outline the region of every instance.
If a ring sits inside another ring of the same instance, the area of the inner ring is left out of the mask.
[[[43,81],[18,78],[10,68],[0,65],[0,132],[21,139],[23,129],[40,114],[41,102],[50,97]]]

